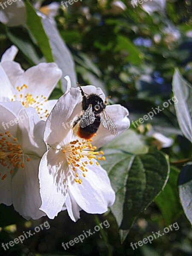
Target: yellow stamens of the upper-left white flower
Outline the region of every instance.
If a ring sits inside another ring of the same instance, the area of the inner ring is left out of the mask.
[[[47,102],[47,98],[42,94],[41,96],[33,96],[32,94],[27,93],[27,85],[23,84],[21,87],[17,86],[17,91],[20,95],[14,95],[14,98],[11,101],[20,101],[24,108],[32,107],[35,108],[40,118],[48,117],[47,109],[44,111],[42,106]],[[23,93],[22,93],[23,92]]]

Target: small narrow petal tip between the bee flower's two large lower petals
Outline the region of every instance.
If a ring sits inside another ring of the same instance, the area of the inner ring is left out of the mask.
[[[68,195],[65,201],[65,205],[67,207],[67,212],[70,218],[72,219],[72,221],[76,222],[77,220],[79,220],[81,208],[73,198],[73,195],[71,194],[70,189],[68,189]]]

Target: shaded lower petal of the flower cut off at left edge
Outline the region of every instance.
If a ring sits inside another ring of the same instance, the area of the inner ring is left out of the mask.
[[[40,158],[30,156],[24,157],[24,169],[19,169],[12,177],[12,201],[13,206],[24,218],[38,219],[46,214],[39,210],[41,206],[41,196],[38,180],[38,166]]]

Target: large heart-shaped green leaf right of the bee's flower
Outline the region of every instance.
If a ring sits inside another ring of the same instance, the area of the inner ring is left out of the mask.
[[[135,218],[151,204],[164,188],[169,176],[169,164],[161,151],[147,151],[141,137],[128,130],[102,148],[116,201],[111,211],[119,226],[122,241]]]

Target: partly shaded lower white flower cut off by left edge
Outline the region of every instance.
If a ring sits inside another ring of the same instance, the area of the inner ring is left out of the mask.
[[[20,102],[0,102],[0,117],[0,204],[13,204],[26,219],[41,218],[38,167],[47,150],[45,122]]]

